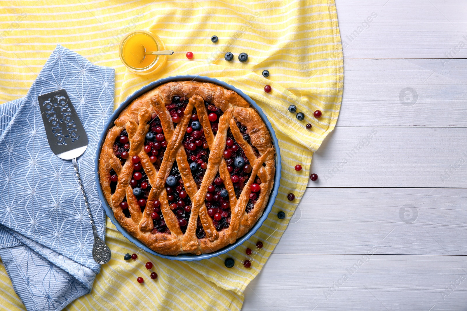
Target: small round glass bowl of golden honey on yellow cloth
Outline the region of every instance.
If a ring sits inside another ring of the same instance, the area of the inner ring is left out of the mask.
[[[121,41],[121,62],[137,75],[156,73],[167,61],[167,55],[144,55],[147,51],[163,51],[165,46],[159,36],[145,30],[128,33]]]

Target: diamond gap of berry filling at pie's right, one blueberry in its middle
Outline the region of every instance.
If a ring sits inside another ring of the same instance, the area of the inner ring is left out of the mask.
[[[250,165],[243,149],[237,144],[235,138],[233,138],[230,129],[227,131],[224,159],[226,159],[227,170],[230,172],[230,179],[233,183],[235,196],[238,199],[241,191],[250,178],[252,166]]]

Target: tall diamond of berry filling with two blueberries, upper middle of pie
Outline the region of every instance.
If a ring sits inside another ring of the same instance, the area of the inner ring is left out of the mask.
[[[190,164],[191,175],[199,188],[206,172],[209,149],[195,109],[186,128],[182,144],[185,148],[188,164]]]

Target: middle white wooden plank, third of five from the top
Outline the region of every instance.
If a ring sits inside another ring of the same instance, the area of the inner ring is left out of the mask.
[[[309,187],[467,187],[467,128],[336,128]],[[305,173],[305,172],[303,172]]]

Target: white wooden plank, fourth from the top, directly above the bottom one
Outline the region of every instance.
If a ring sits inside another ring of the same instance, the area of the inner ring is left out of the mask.
[[[465,189],[307,188],[274,253],[467,255]]]

